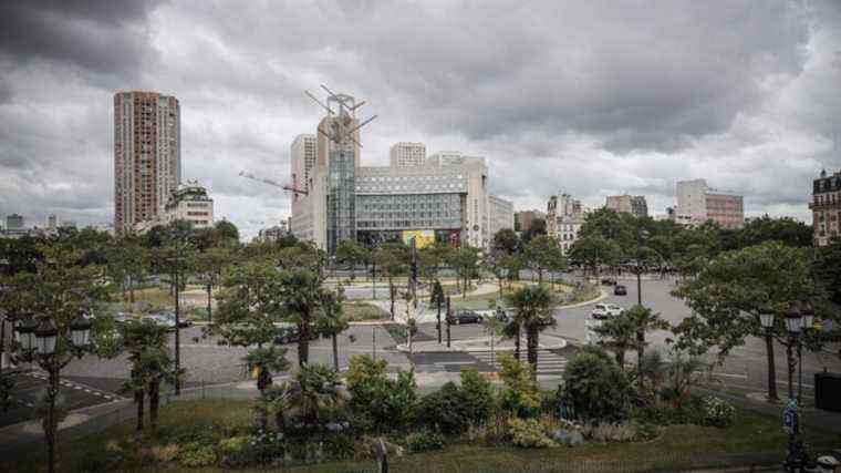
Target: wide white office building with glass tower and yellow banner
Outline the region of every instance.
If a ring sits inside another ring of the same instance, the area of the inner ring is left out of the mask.
[[[323,132],[318,136],[312,185],[292,202],[290,227],[295,237],[330,254],[344,239],[372,246],[409,238],[424,245],[435,240],[490,245],[488,169],[482,157],[451,152],[443,160],[440,154],[422,160],[422,165],[397,160],[396,165],[362,166],[354,99],[338,95],[328,102],[331,113],[319,125]],[[501,199],[495,203],[503,212]]]

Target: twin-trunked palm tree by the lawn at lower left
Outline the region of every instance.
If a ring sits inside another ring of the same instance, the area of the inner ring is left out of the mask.
[[[162,383],[175,383],[183,373],[173,368],[173,359],[166,348],[167,329],[150,321],[128,322],[122,327],[123,347],[132,364],[131,377],[123,389],[134,394],[137,404],[137,431],[143,431],[143,407],[149,399],[149,428],[157,430],[158,405]]]

